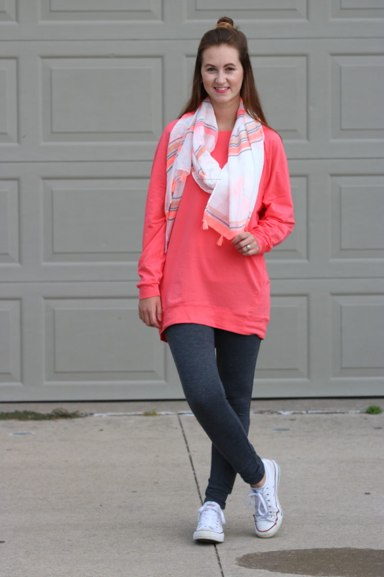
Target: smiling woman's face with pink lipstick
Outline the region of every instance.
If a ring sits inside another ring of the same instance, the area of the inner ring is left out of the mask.
[[[243,69],[237,48],[228,44],[211,46],[202,56],[201,80],[212,106],[238,106]]]

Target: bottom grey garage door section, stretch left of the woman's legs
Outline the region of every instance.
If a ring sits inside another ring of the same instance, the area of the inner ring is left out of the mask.
[[[121,282],[0,284],[0,398],[182,397],[169,347],[138,318],[137,293]]]

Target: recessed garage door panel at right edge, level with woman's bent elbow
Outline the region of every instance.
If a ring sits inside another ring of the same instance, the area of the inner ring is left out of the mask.
[[[384,258],[384,176],[332,177],[332,257]]]

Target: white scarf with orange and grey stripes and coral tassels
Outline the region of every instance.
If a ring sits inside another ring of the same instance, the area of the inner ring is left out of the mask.
[[[230,137],[228,160],[223,168],[211,156],[218,139],[218,127],[209,98],[192,115],[185,114],[170,133],[167,151],[165,195],[166,239],[168,248],[185,180],[192,173],[201,189],[210,193],[203,215],[208,226],[231,240],[245,230],[252,215],[264,165],[264,131],[250,117],[240,99]]]

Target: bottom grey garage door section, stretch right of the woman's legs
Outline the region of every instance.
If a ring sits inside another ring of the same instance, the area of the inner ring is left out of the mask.
[[[271,286],[271,324],[254,396],[384,394],[382,279],[274,280]]]

